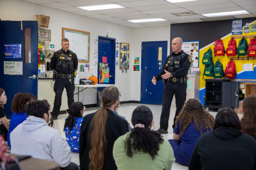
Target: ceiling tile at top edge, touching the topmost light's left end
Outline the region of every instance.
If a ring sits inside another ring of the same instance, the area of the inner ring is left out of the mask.
[[[132,2],[121,2],[117,3],[123,7],[140,7],[145,5],[159,5],[159,4],[169,4],[170,2],[164,0],[142,0],[142,1],[132,1]]]

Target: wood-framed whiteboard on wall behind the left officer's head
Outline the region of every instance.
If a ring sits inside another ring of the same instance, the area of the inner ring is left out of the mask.
[[[90,62],[90,33],[62,28],[62,39],[69,40],[69,49],[76,53],[78,62]]]

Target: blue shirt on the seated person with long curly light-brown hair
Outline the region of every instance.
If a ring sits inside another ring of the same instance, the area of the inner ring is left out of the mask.
[[[212,131],[209,129],[209,131]],[[207,132],[205,127],[202,127],[202,134]],[[175,134],[180,134],[180,121],[177,124],[177,127],[174,128]],[[180,135],[180,151],[182,151],[186,155],[191,155],[193,152],[193,149],[196,145],[197,140],[201,136],[200,131],[198,131],[194,127],[194,123],[188,125],[185,132]]]

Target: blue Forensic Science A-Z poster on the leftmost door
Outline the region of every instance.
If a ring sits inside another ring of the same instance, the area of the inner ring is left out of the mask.
[[[21,44],[4,44],[4,58],[21,58]]]

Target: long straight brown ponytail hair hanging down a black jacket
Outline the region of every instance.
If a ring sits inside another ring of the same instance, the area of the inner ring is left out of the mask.
[[[91,139],[91,150],[89,152],[90,170],[100,170],[104,164],[104,154],[107,149],[106,121],[108,118],[107,108],[116,103],[119,97],[119,91],[115,86],[106,87],[101,93],[102,107],[98,110],[89,128],[89,137]]]

